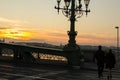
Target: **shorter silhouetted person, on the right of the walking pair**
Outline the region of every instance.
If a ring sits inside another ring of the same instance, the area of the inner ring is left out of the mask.
[[[108,69],[108,80],[112,78],[111,70],[114,68],[116,60],[115,55],[112,53],[112,50],[110,49],[109,52],[106,54],[106,68]]]

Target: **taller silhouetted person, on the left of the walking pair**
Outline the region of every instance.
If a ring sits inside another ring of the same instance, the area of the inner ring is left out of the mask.
[[[97,61],[98,66],[98,77],[100,78],[103,76],[103,69],[104,69],[104,62],[105,62],[105,53],[102,50],[102,46],[98,46],[98,50],[94,55],[94,61]]]

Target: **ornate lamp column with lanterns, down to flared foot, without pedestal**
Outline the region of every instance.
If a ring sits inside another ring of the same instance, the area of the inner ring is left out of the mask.
[[[83,15],[83,12],[88,15],[88,12],[90,12],[90,10],[88,10],[89,2],[90,0],[84,0],[86,9],[83,10],[82,0],[64,0],[65,6],[62,8],[60,7],[61,0],[57,0],[57,6],[55,6],[55,9],[57,9],[58,13],[62,10],[63,15],[70,19],[70,31],[67,32],[69,41],[63,49],[69,53],[80,50],[75,40],[75,37],[77,36],[77,31],[75,31],[75,21]]]

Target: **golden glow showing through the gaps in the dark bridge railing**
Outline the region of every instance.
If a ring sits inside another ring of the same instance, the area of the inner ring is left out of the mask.
[[[57,55],[49,55],[49,54],[37,54],[37,53],[33,53],[32,54],[34,56],[34,58],[39,58],[39,59],[46,59],[46,60],[58,60],[58,61],[67,61],[67,59],[63,56],[57,56]],[[14,54],[13,53],[3,53],[2,56],[4,57],[13,57]]]

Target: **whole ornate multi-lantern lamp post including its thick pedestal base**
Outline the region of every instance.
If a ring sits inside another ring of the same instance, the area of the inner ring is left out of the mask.
[[[90,10],[88,10],[90,0],[84,0],[85,10],[82,9],[81,0],[64,0],[65,6],[62,8],[60,7],[60,2],[61,0],[57,0],[58,5],[55,6],[55,9],[58,10],[58,13],[62,10],[62,13],[70,19],[70,31],[67,32],[69,41],[63,50],[66,52],[68,63],[70,65],[77,65],[80,63],[80,57],[78,57],[80,56],[80,48],[75,40],[75,37],[77,36],[77,31],[75,31],[75,21],[83,15],[83,12],[85,12],[86,15],[90,12]]]

